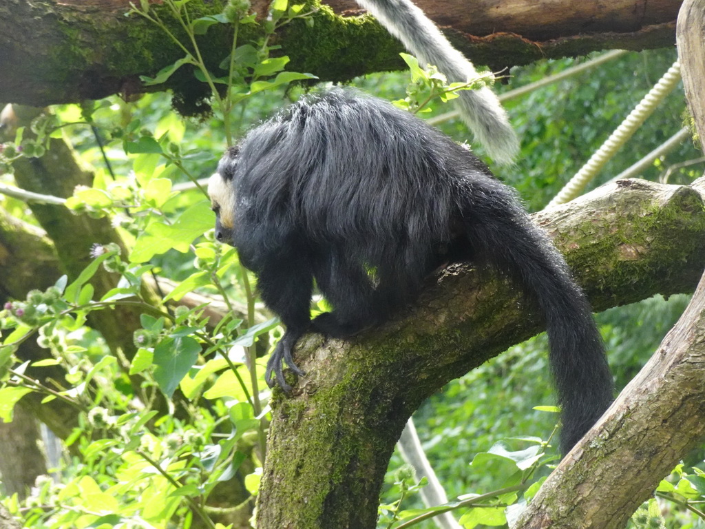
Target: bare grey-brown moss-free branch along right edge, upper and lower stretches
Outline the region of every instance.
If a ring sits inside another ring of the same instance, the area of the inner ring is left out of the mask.
[[[705,1],[685,0],[678,51],[689,108],[705,147],[704,32]],[[704,437],[705,275],[658,351],[548,477],[516,527],[622,528]]]

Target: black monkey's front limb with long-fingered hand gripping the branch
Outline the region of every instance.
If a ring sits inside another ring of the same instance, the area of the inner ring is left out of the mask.
[[[289,254],[287,257],[291,257]],[[312,291],[312,274],[307,260],[290,258],[272,260],[258,270],[257,287],[265,305],[279,315],[286,325],[286,332],[266,365],[264,379],[269,387],[279,384],[286,393],[291,386],[286,383],[282,372],[282,360],[296,375],[304,372],[294,363],[291,353],[296,342],[310,324],[309,305]],[[274,377],[272,376],[274,372]]]

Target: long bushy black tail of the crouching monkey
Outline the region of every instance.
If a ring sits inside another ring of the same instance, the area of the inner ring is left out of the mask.
[[[544,312],[551,371],[562,408],[560,448],[566,454],[613,399],[601,337],[589,302],[563,256],[532,223],[512,190],[489,181],[478,192],[484,200],[463,208],[474,253],[524,286]]]

